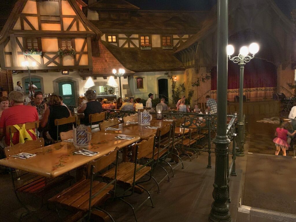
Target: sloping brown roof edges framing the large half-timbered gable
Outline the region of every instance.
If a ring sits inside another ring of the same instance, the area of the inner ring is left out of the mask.
[[[13,29],[15,23],[17,22],[19,15],[22,13],[22,10],[24,9],[26,3],[28,0],[18,0],[13,9],[10,13],[7,21],[5,22],[5,25],[3,26],[1,32],[0,32],[0,43],[4,41],[5,37],[8,35],[8,31]],[[69,4],[72,6],[74,11],[77,13],[78,18],[84,22],[93,32],[97,35],[96,38],[99,38],[98,36],[101,34],[101,31],[96,28],[83,14],[81,9],[79,8],[76,0],[67,0]]]

